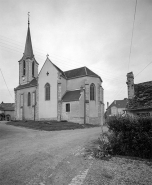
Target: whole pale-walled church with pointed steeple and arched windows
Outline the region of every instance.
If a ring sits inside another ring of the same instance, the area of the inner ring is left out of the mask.
[[[59,69],[47,55],[38,73],[28,19],[23,57],[15,92],[16,120],[58,120],[103,124],[102,79],[87,67]]]

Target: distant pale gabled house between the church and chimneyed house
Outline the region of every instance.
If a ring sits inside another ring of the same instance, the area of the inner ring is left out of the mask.
[[[123,115],[126,110],[126,104],[127,98],[124,98],[123,100],[114,100],[110,106],[109,103],[107,103],[105,117]]]

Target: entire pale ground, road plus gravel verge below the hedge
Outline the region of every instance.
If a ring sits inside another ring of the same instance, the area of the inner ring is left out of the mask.
[[[150,162],[86,154],[100,133],[100,127],[47,132],[0,122],[0,185],[151,185]]]

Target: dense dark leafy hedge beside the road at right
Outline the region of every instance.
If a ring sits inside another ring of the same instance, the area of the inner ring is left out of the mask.
[[[110,131],[107,135],[109,153],[152,158],[151,117],[114,116],[108,120],[107,126]]]

